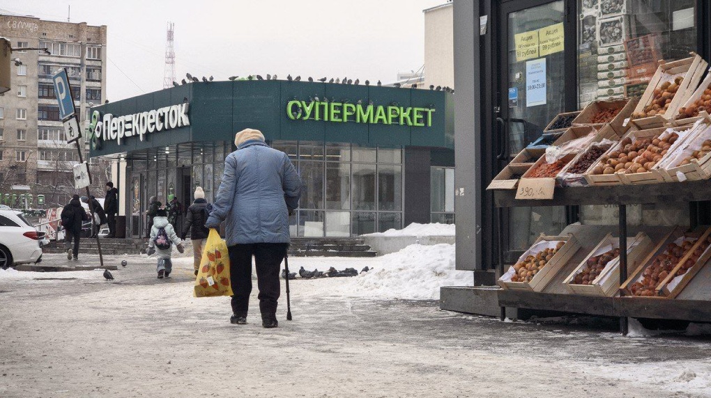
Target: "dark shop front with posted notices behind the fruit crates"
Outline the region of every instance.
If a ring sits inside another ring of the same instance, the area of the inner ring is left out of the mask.
[[[486,191],[557,114],[591,101],[640,96],[658,60],[711,55],[711,5],[695,0],[454,1],[456,85],[456,267],[493,284],[540,233],[616,225],[614,205],[503,211]],[[637,57],[636,47],[646,58]],[[639,48],[639,47],[637,47]],[[652,54],[650,57],[649,55]],[[473,155],[472,155],[473,154]],[[688,204],[626,206],[630,225],[688,226]],[[499,248],[501,245],[501,257]]]

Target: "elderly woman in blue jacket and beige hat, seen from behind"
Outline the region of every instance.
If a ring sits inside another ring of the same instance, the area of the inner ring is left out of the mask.
[[[220,189],[205,226],[218,228],[225,221],[234,292],[230,322],[247,323],[254,256],[262,326],[275,328],[279,267],[289,248],[289,214],[299,206],[301,180],[287,154],[269,148],[260,131],[240,131],[235,145],[237,150],[225,159]]]

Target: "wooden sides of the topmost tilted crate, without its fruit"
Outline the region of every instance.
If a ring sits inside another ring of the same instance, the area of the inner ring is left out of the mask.
[[[703,72],[708,65],[708,62],[702,60],[699,55],[694,52],[690,53],[691,57],[684,58],[673,62],[660,61],[654,76],[650,80],[647,89],[642,98],[639,100],[633,114],[644,110],[645,106],[651,103],[654,90],[661,86],[663,82],[673,81],[676,77],[683,77],[683,81],[679,84],[679,88],[669,104],[665,114],[655,115],[646,118],[633,119],[630,123],[634,123],[641,130],[648,128],[656,128],[666,126],[669,121],[676,116],[679,107],[685,104],[688,97],[693,94],[699,84]]]

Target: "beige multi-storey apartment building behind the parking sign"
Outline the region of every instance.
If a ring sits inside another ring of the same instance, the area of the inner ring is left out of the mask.
[[[91,106],[106,99],[106,26],[44,21],[0,14],[0,36],[14,48],[11,89],[0,95],[0,194],[45,195],[48,206],[73,194],[79,156],[65,143],[51,76],[67,70],[77,115],[87,124]],[[46,48],[48,52],[21,50]],[[80,143],[87,158],[88,146]],[[14,192],[22,189],[23,192]]]

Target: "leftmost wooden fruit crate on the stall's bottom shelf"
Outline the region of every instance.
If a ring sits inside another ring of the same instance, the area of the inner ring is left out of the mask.
[[[572,234],[541,234],[497,282],[504,289],[542,292],[579,248],[580,243]]]

